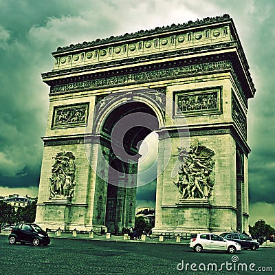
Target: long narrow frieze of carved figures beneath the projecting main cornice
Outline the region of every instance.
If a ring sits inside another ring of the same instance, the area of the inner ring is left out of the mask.
[[[234,72],[232,63],[230,61],[217,61],[212,63],[186,65],[182,67],[174,67],[169,69],[159,69],[149,72],[140,72],[137,74],[125,74],[122,76],[112,76],[109,78],[98,78],[87,81],[80,81],[76,83],[69,83],[65,85],[56,85],[51,87],[51,93],[62,93],[66,91],[80,89],[96,89],[97,87],[113,85],[126,85],[136,82],[139,83],[146,80],[165,80],[169,78],[178,78],[179,76],[185,76],[188,74],[195,75],[201,74],[203,72],[212,72],[224,69],[231,69],[232,72]]]

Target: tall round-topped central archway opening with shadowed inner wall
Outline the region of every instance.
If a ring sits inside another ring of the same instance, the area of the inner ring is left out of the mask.
[[[152,181],[157,176],[156,161],[153,163],[144,161],[146,157],[155,158],[155,155],[153,157],[148,155],[152,154],[152,151],[150,148],[146,150],[144,146],[150,146],[150,142],[144,142],[144,139],[150,137],[150,134],[158,128],[157,115],[144,102],[121,104],[109,113],[102,124],[101,150],[104,151],[109,164],[104,225],[109,232],[121,232],[123,228],[134,226],[137,188],[146,184],[152,188]],[[157,143],[156,137],[157,135],[153,141]],[[146,157],[142,157],[140,154],[142,152]],[[140,166],[143,177],[137,182],[140,159],[142,159]],[[144,178],[146,173],[148,179]]]

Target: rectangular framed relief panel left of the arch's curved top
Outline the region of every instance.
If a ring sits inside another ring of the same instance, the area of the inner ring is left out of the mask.
[[[86,126],[89,103],[54,107],[52,128]]]

